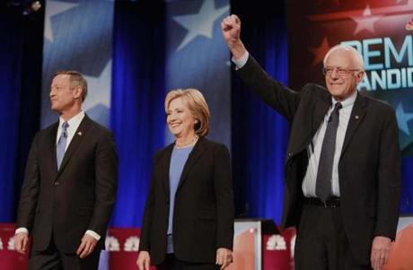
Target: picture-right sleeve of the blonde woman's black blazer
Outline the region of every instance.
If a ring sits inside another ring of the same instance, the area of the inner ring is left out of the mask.
[[[214,152],[214,188],[216,248],[233,249],[233,179],[230,153],[224,144],[219,144]]]

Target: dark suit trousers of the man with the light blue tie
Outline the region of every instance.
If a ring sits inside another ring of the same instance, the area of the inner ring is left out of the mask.
[[[85,258],[80,258],[77,254],[63,253],[58,250],[52,237],[46,250],[31,250],[29,270],[97,270],[100,256],[100,248],[95,248]]]

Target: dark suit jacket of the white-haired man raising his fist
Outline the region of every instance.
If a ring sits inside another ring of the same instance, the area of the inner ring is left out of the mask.
[[[253,57],[237,73],[291,124],[282,227],[297,226],[302,213],[307,147],[331,105],[330,92],[312,83],[302,91],[292,91],[266,74]],[[350,248],[365,264],[369,264],[373,236],[395,238],[400,203],[398,131],[391,106],[357,93],[338,162],[338,177]]]

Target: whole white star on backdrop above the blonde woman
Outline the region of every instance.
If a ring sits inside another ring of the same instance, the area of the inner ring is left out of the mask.
[[[215,20],[229,11],[229,9],[229,5],[215,9],[214,0],[205,0],[198,13],[172,17],[174,21],[180,23],[181,26],[188,30],[185,39],[180,42],[177,51],[184,48],[192,39],[198,36],[212,39]]]

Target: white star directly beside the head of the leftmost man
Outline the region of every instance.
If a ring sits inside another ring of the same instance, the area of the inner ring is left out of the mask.
[[[112,61],[106,64],[99,77],[84,76],[87,81],[87,97],[83,102],[83,110],[92,109],[98,104],[110,108],[110,81]]]

